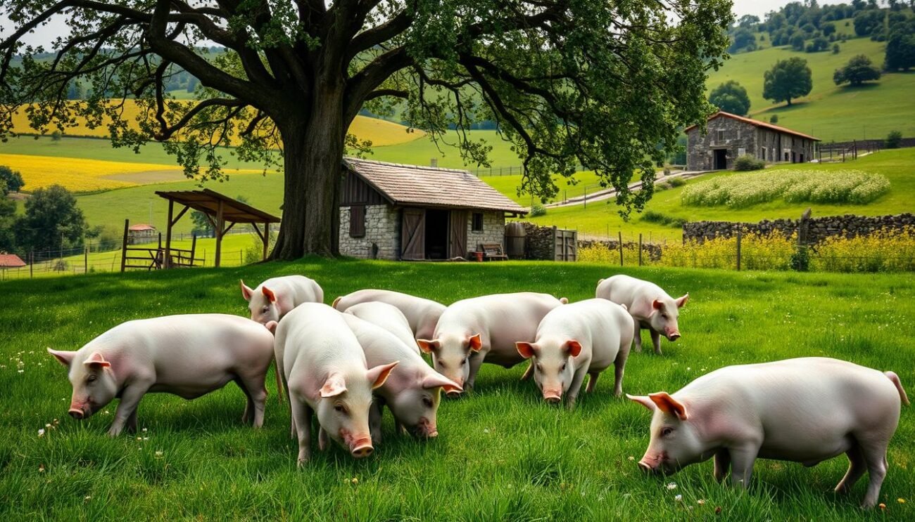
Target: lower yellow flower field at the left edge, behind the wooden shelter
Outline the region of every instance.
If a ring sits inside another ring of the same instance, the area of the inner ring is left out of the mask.
[[[29,192],[53,184],[62,185],[76,193],[130,187],[137,183],[107,179],[105,176],[147,171],[178,171],[175,165],[102,162],[100,160],[23,154],[0,154],[0,165],[6,165],[14,171],[21,172],[22,178],[26,182],[25,190]]]

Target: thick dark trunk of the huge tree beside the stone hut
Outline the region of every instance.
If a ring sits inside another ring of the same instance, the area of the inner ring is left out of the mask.
[[[281,126],[283,223],[272,259],[339,254],[339,179],[346,135],[342,89],[321,90],[306,121]]]

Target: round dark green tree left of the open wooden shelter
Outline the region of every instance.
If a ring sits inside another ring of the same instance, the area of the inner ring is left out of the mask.
[[[51,185],[26,200],[26,213],[16,220],[15,229],[16,245],[45,252],[81,246],[87,226],[73,194]]]

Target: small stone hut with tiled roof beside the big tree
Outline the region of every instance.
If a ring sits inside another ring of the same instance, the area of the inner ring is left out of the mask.
[[[527,214],[467,171],[343,160],[339,250],[370,259],[468,257],[504,248],[505,217]]]

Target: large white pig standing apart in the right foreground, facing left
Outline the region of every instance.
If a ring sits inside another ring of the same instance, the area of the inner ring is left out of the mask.
[[[718,481],[729,466],[731,482],[746,487],[757,458],[813,466],[844,453],[850,465],[835,491],[847,493],[867,471],[864,507],[877,504],[900,403],[909,404],[892,371],[818,357],[728,366],[673,395],[628,397],[653,412],[639,462],[646,472],[714,456]]]

